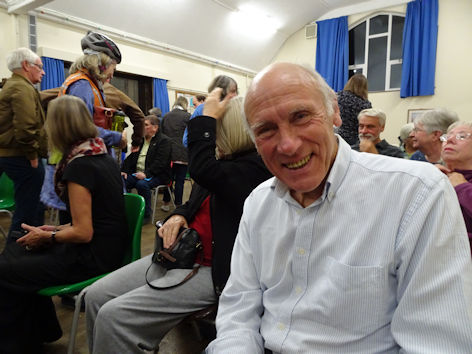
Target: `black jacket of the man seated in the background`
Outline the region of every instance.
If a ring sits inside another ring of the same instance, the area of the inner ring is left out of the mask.
[[[123,167],[121,168],[123,172],[126,172],[127,174],[136,172],[136,164],[138,163],[139,153],[143,148],[143,144],[141,144],[139,151],[131,153],[125,161],[123,161]],[[171,152],[171,139],[158,131],[151,139],[146,154],[146,163],[144,165],[144,173],[146,176],[157,177],[159,178],[159,183],[168,184],[171,180]]]

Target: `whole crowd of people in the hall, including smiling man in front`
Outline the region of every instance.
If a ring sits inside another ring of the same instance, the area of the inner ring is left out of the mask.
[[[207,353],[470,351],[472,123],[434,109],[394,146],[381,137],[387,114],[368,101],[365,76],[335,93],[290,63],[263,69],[244,101],[220,75],[208,96],[192,98],[192,115],[182,96],[167,114],[144,116],[110,84],[118,46],[97,32],[81,46],[63,85],[41,95],[41,58],[26,48],[7,58],[0,173],[13,180],[16,209],[0,254],[2,353],[37,353],[61,337],[38,290],[106,272],[85,296],[91,353],[157,350],[216,303]],[[133,124],[122,163],[115,153],[127,134],[103,125],[107,108]],[[164,247],[182,228],[200,236],[188,280],[152,255],[119,268],[123,192],[144,197],[147,221],[158,185],[172,186],[176,204],[171,211],[166,192]],[[44,225],[44,191],[64,206],[59,226]]]

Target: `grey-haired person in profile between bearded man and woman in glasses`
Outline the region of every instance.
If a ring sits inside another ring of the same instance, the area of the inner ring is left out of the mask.
[[[434,109],[423,114],[414,121],[413,147],[418,149],[410,160],[441,163],[441,135],[458,120],[455,112],[447,109]]]

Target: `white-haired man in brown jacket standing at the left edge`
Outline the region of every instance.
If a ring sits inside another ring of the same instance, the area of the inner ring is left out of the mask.
[[[43,130],[44,112],[33,86],[41,82],[43,63],[28,48],[18,48],[7,57],[13,73],[0,91],[0,174],[6,173],[15,185],[15,213],[10,226],[42,225],[44,213],[39,193],[44,179],[41,158],[47,156]]]

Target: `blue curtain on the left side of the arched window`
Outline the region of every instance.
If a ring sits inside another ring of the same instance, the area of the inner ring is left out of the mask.
[[[349,66],[347,16],[316,23],[316,71],[334,91],[342,90],[348,79]]]

